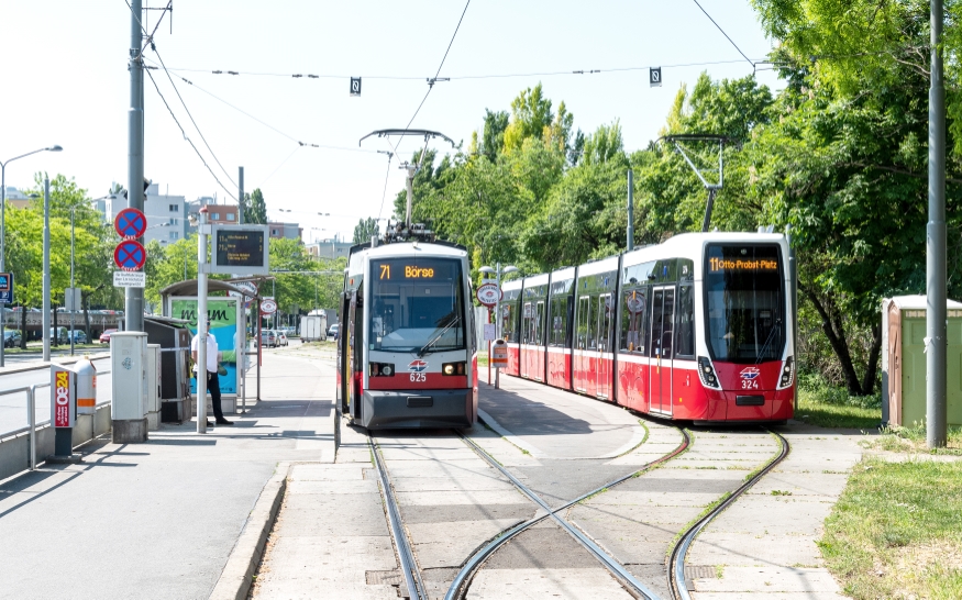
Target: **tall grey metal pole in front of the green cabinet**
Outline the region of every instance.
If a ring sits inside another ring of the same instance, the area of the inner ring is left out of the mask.
[[[946,446],[946,86],[942,0],[931,2],[929,84],[929,223],[926,226],[926,443]]]

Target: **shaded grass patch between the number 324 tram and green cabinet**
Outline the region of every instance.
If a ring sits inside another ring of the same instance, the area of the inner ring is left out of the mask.
[[[820,427],[874,430],[882,422],[882,396],[849,396],[818,374],[798,374],[795,419]]]

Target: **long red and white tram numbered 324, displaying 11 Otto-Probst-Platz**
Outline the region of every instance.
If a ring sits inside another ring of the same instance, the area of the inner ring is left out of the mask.
[[[676,420],[793,415],[783,235],[690,233],[505,284],[508,375]]]

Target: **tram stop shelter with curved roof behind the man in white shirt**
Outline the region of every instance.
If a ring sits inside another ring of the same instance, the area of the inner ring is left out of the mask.
[[[250,281],[250,279],[245,279]],[[228,292],[226,296],[211,296],[212,292]],[[198,319],[197,305],[197,279],[178,281],[161,290],[161,305],[164,316],[183,320],[190,331],[190,337],[197,334]],[[218,343],[218,351],[222,355],[218,362],[218,378],[221,388],[221,405],[225,414],[234,414],[239,407],[246,409],[247,393],[246,374],[250,368],[248,357],[257,359],[256,396],[261,399],[261,345],[257,351],[250,351],[247,338],[247,311],[254,307],[255,330],[259,330],[261,296],[251,296],[250,289],[233,285],[231,281],[208,279],[207,311],[211,321],[210,334]],[[259,338],[259,331],[254,335]],[[191,396],[197,398],[197,379],[190,379]],[[210,402],[210,399],[208,399]],[[196,408],[195,408],[196,413]],[[208,411],[210,414],[210,410]]]

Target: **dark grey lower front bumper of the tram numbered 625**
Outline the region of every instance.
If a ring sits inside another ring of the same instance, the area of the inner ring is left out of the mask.
[[[378,429],[469,427],[477,419],[471,389],[364,390],[361,426]]]

